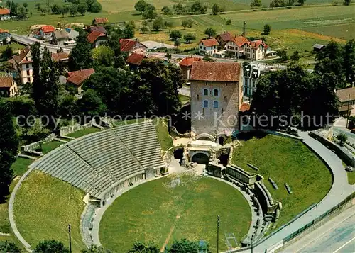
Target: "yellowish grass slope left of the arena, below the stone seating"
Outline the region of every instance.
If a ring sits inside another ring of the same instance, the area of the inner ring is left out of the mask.
[[[80,215],[84,192],[48,174],[35,170],[16,195],[13,211],[21,235],[32,247],[40,240],[68,244],[67,225],[72,225],[72,249],[84,249],[80,236]]]

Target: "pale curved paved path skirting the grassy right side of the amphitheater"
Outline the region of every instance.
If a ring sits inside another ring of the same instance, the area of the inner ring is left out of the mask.
[[[322,215],[325,211],[329,210],[333,206],[336,206],[339,202],[343,201],[347,196],[354,192],[355,186],[348,184],[346,172],[342,165],[342,160],[337,157],[334,152],[327,149],[317,140],[308,135],[308,132],[300,132],[300,137],[303,138],[305,144],[315,150],[320,157],[329,165],[334,174],[334,181],[332,189],[330,189],[327,196],[325,196],[317,206],[309,210],[305,215],[290,223],[288,226],[283,227],[282,230],[269,237],[267,240],[256,246],[253,252],[265,252],[266,249],[278,244],[283,238],[287,237],[291,233],[297,231],[300,227],[307,225],[315,218]],[[246,251],[249,252],[249,251]]]

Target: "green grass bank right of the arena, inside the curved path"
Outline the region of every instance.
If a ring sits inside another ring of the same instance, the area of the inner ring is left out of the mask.
[[[253,173],[247,163],[260,168],[258,174],[264,177],[274,201],[283,203],[277,226],[321,201],[332,186],[332,176],[322,161],[302,142],[290,138],[266,135],[242,141],[242,146],[234,150],[233,163]],[[269,176],[278,184],[278,190],[273,189]],[[292,194],[288,194],[285,183]]]

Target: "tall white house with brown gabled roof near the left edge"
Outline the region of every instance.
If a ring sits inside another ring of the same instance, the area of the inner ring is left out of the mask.
[[[12,67],[15,70],[16,75],[19,77],[21,84],[33,83],[30,46],[23,48],[23,50],[18,50],[18,55],[13,56],[12,59],[9,60],[9,63],[12,64]]]

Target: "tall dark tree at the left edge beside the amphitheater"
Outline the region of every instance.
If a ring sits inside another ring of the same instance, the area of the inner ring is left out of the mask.
[[[11,164],[15,162],[18,151],[18,137],[9,103],[0,99],[0,203],[9,195],[9,186],[13,172]]]

